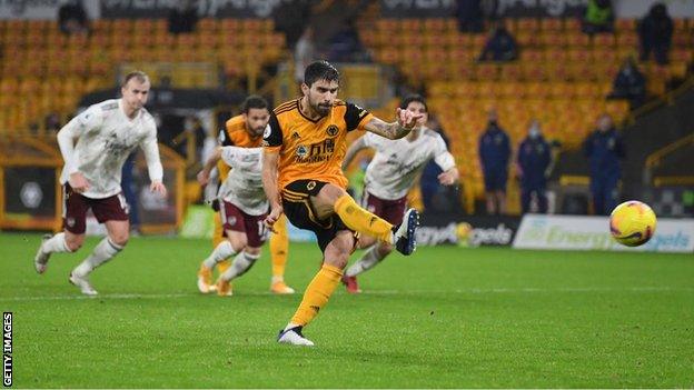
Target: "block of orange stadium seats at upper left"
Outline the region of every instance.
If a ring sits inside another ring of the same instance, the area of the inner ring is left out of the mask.
[[[50,112],[68,117],[81,96],[112,87],[123,61],[212,62],[237,80],[286,51],[269,19],[202,19],[178,36],[166,20],[98,19],[90,36],[69,37],[50,20],[0,20],[0,132],[14,133],[42,128]]]

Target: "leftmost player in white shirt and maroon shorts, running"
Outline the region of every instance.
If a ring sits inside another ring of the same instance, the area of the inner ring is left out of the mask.
[[[97,291],[89,273],[112,259],[128,242],[128,203],[120,187],[122,166],[139,146],[145,152],[150,190],[166,197],[163,170],[157,146],[155,120],[143,108],[150,82],[140,71],[126,76],[122,98],[93,104],[75,117],[58,132],[65,160],[60,177],[63,186],[63,231],[44,236],[34,257],[38,273],[43,273],[52,253],[75,252],[85,242],[86,216],[91,209],[108,236],[91,254],[70,272],[70,282],[88,296]],[[77,142],[77,143],[76,143]]]

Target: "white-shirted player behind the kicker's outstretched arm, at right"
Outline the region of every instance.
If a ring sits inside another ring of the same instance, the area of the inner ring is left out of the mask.
[[[399,140],[388,140],[367,133],[358,138],[347,149],[343,170],[363,149],[376,150],[374,159],[366,168],[363,204],[376,216],[393,224],[403,222],[407,206],[407,192],[415,183],[425,164],[434,161],[444,171],[438,176],[442,184],[450,186],[458,180],[458,169],[453,154],[446,148],[444,139],[426,127],[427,106],[423,97],[412,94],[403,99],[400,109],[420,113],[417,127]],[[360,237],[358,248],[368,248],[366,252],[347,269],[343,283],[351,293],[360,292],[357,276],[367,271],[393,251],[393,246],[376,242],[370,237]]]

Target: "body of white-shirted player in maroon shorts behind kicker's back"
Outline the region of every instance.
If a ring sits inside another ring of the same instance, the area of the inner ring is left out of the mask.
[[[217,194],[227,239],[212,250],[201,267],[211,272],[217,263],[236,254],[231,267],[217,279],[217,294],[224,297],[232,293],[231,280],[246,273],[260,258],[260,247],[268,236],[262,221],[270,204],[262,189],[262,148],[217,147],[198,173],[201,186],[207,186],[219,159],[231,167]],[[205,291],[199,280],[198,289]]]

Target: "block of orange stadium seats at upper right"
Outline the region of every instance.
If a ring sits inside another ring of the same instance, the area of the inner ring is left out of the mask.
[[[458,31],[455,19],[365,19],[360,37],[375,60],[396,67],[407,81],[426,90],[432,111],[452,138],[467,186],[483,193],[477,140],[486,111],[496,108],[513,144],[525,137],[531,119],[565,149],[576,149],[601,112],[617,122],[628,116],[626,101],[605,100],[621,61],[635,56],[634,20],[617,20],[615,33],[581,31],[576,19],[508,19],[505,27],[520,47],[520,59],[476,62],[485,34]],[[694,42],[690,20],[676,20],[671,63],[642,63],[652,96],[665,93],[666,81],[684,78]]]

